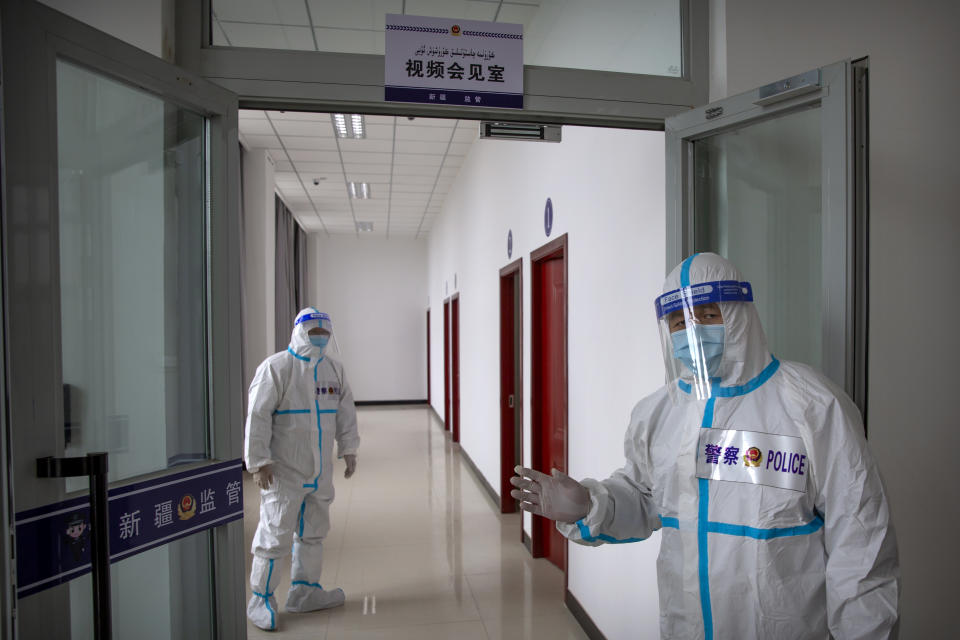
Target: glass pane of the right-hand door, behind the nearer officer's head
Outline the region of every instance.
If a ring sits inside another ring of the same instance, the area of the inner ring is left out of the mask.
[[[694,143],[694,247],[753,284],[774,355],[822,368],[820,109]]]

